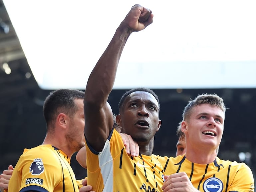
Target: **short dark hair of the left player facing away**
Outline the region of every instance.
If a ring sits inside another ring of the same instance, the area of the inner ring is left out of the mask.
[[[84,99],[84,92],[72,89],[59,89],[50,92],[43,106],[47,130],[54,127],[58,114],[64,113],[71,117],[75,114],[77,111],[77,106],[74,103],[75,99]]]

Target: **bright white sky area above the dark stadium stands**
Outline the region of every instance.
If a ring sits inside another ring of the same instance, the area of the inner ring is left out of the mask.
[[[256,87],[254,0],[4,0],[43,89],[83,89],[135,3],[154,23],[128,40],[114,88]]]

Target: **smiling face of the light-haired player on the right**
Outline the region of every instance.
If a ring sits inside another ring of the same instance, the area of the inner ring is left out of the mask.
[[[224,112],[217,106],[201,104],[194,106],[187,121],[182,123],[187,148],[215,150],[221,141]]]

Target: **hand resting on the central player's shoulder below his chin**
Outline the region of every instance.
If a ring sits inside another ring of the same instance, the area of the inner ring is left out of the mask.
[[[135,142],[130,135],[125,133],[120,133],[123,143],[125,146],[125,150],[127,154],[131,154],[132,157],[137,157],[139,155],[139,145]]]

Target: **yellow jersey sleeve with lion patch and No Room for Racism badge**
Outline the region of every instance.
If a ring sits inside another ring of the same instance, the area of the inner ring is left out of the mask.
[[[21,176],[20,191],[53,191],[62,181],[60,160],[54,151],[46,147],[25,152],[16,166]]]

